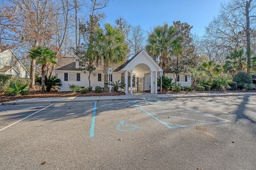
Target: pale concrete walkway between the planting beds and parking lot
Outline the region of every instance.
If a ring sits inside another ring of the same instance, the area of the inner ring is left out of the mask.
[[[145,100],[145,99],[174,99],[174,98],[195,98],[195,97],[228,97],[228,96],[256,96],[256,92],[215,92],[201,94],[133,94],[122,96],[89,96],[89,97],[49,97],[18,99],[2,105],[23,105],[23,104],[52,104],[52,103],[76,103],[86,101],[117,101],[117,100]]]

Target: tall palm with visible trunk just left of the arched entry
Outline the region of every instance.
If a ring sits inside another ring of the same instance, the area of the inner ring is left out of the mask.
[[[103,62],[104,90],[108,90],[108,68],[124,61],[128,46],[122,30],[106,23],[95,33],[94,50]]]

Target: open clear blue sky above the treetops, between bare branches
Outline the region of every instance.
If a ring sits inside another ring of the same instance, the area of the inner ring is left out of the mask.
[[[220,4],[229,0],[110,0],[104,22],[115,23],[122,16],[131,25],[141,25],[145,31],[173,21],[193,25],[192,33],[204,35],[205,27],[217,16]]]

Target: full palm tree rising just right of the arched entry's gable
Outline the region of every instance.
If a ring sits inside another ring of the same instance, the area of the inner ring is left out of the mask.
[[[166,73],[165,67],[171,60],[173,47],[177,46],[182,40],[181,37],[175,37],[175,34],[176,29],[169,27],[166,23],[163,26],[158,25],[155,27],[147,40],[146,50],[149,55],[155,57],[155,60],[159,58],[164,74]]]

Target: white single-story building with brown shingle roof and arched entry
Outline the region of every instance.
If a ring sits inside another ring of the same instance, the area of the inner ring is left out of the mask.
[[[125,93],[150,91],[157,93],[157,77],[162,72],[161,67],[148,55],[145,50],[141,50],[119,67],[113,68],[111,81],[123,81],[125,83]],[[69,84],[76,84],[81,87],[88,87],[88,75],[79,69],[79,62],[76,58],[62,57],[58,59],[55,66],[55,73],[62,81],[59,91],[69,91]],[[169,78],[173,78],[172,73],[167,73]],[[132,79],[131,79],[132,77]],[[99,66],[91,75],[91,86],[104,86],[103,67]],[[178,83],[181,86],[191,86],[189,75],[179,75]]]

